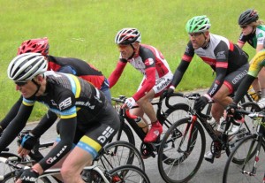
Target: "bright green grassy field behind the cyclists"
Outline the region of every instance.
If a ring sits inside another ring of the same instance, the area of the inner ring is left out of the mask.
[[[49,37],[49,53],[59,57],[79,57],[95,65],[107,77],[117,64],[118,52],[114,43],[117,31],[123,27],[137,27],[142,42],[163,52],[175,71],[186,48],[188,36],[185,25],[193,16],[206,14],[211,32],[237,42],[240,29],[239,14],[247,8],[261,9],[260,1],[252,0],[0,0],[0,118],[19,98],[19,92],[8,80],[6,69],[24,40]],[[264,17],[259,10],[260,17]],[[254,50],[244,48],[252,57]],[[133,95],[142,76],[128,65],[113,96]],[[193,58],[178,90],[208,88],[214,77],[208,65]],[[40,104],[34,109],[32,120],[46,111]]]

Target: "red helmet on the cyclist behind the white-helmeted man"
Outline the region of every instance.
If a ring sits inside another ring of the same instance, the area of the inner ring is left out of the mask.
[[[48,38],[43,37],[22,42],[19,46],[18,55],[28,52],[41,53],[42,56],[47,56],[49,54]]]

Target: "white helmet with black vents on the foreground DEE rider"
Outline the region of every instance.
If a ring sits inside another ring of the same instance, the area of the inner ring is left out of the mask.
[[[7,75],[11,80],[32,80],[46,72],[48,61],[40,53],[24,53],[14,57],[8,65]]]

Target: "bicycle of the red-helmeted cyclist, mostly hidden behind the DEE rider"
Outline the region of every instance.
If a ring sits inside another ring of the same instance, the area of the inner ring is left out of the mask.
[[[26,130],[19,133],[19,141],[23,138],[23,135],[29,132],[30,130]],[[31,150],[29,155],[23,158],[9,152],[1,153],[0,157],[5,157],[5,158],[11,157],[12,159],[15,158],[16,162],[19,162],[19,164],[33,165],[36,162],[39,162],[43,157],[40,150],[47,149],[52,145],[53,142],[47,142],[42,144],[37,143],[34,146],[34,149]],[[140,152],[129,142],[126,141],[110,142],[105,147],[103,147],[101,151],[102,151],[102,156],[100,158],[99,164],[103,164],[104,168],[108,171],[112,170],[114,167],[125,164],[133,164],[139,167],[142,171],[145,171],[144,162],[140,155]],[[6,167],[4,172],[1,172],[1,174],[3,175],[7,174],[7,172],[13,171],[13,166],[6,166],[4,164],[1,164],[1,167]],[[57,182],[61,181],[57,179]]]

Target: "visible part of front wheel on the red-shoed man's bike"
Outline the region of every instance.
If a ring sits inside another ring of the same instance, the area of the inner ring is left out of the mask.
[[[118,133],[117,132],[114,137],[113,140],[115,141],[128,141],[131,144],[133,144],[133,146],[135,146],[135,140],[134,140],[134,135],[133,135],[133,131],[130,128],[130,126],[128,126],[127,124],[125,124],[125,122],[123,123],[123,125],[121,126],[121,136],[120,138],[117,137]]]

